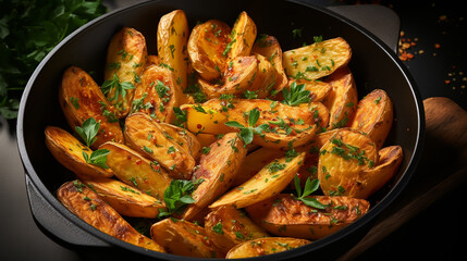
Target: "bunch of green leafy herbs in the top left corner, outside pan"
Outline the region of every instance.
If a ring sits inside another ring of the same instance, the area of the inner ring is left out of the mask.
[[[0,0],[0,114],[16,119],[39,62],[65,36],[107,12],[101,0]]]

